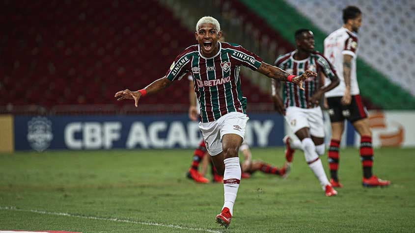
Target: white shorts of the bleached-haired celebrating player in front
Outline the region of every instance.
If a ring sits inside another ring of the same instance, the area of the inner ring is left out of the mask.
[[[202,131],[209,155],[219,155],[223,151],[222,137],[225,134],[238,134],[244,139],[248,120],[246,114],[230,112],[213,122],[199,122],[199,129]]]

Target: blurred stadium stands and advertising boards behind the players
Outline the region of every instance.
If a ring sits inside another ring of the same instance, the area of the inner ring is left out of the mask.
[[[194,148],[200,134],[187,116],[187,79],[138,108],[114,93],[163,77],[195,44],[202,16],[217,18],[227,41],[273,64],[294,49],[298,28],[310,28],[322,51],[350,4],[363,12],[357,70],[374,145],[414,147],[412,0],[0,0],[0,152]],[[248,69],[242,76],[249,144],[282,146],[289,132],[274,112],[270,80]],[[359,144],[350,125],[345,134],[343,146]]]

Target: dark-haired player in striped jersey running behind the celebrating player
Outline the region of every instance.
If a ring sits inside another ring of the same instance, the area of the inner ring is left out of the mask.
[[[324,154],[325,145],[323,113],[318,104],[325,92],[339,84],[339,79],[330,62],[321,53],[314,51],[314,35],[309,29],[297,30],[295,41],[297,50],[279,56],[275,61],[276,66],[294,75],[312,70],[318,74],[318,77],[306,79],[304,90],[291,83],[284,83],[283,100],[277,92],[280,83],[273,80],[272,93],[276,109],[285,116],[292,131],[301,140],[301,142],[294,140],[290,143],[289,138],[284,138],[287,145],[286,158],[287,162],[291,163],[293,148],[303,150],[305,161],[320,181],[326,196],[333,196],[337,192],[327,179],[319,158],[319,155]],[[325,77],[332,80],[328,86],[322,85]]]

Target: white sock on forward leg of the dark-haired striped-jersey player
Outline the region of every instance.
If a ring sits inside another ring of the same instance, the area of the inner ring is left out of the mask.
[[[330,182],[327,179],[323,164],[316,153],[316,146],[314,145],[313,140],[309,137],[304,138],[302,144],[304,148],[305,161],[324,189],[327,184],[330,184]]]

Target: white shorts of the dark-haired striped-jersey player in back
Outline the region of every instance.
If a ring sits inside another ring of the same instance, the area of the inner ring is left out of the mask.
[[[294,133],[306,127],[310,129],[311,135],[324,137],[323,112],[320,106],[314,108],[287,107],[285,120]]]

